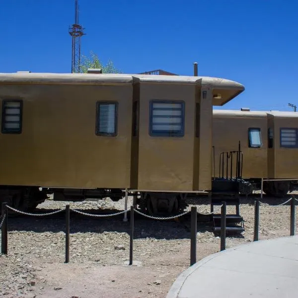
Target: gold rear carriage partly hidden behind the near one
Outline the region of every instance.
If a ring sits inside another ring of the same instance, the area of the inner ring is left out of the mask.
[[[244,179],[256,189],[263,179],[266,194],[282,197],[298,179],[298,113],[214,110],[213,148],[214,179]]]

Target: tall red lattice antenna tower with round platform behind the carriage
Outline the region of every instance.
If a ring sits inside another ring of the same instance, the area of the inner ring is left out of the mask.
[[[74,24],[69,27],[72,36],[72,73],[80,72],[80,39],[83,35],[83,28],[78,23],[78,0],[74,0]]]

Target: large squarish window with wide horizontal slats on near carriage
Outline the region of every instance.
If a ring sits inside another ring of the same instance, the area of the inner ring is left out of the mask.
[[[150,136],[184,136],[184,101],[152,100],[150,102]]]

